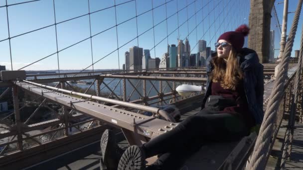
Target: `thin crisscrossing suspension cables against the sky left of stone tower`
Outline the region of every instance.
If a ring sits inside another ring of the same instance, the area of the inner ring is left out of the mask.
[[[37,29],[33,29],[33,30],[30,30],[30,31],[27,31],[27,32],[23,32],[21,34],[17,34],[17,35],[14,35],[14,36],[10,36],[9,32],[10,32],[10,28],[9,28],[9,10],[8,10],[8,7],[10,6],[14,6],[14,5],[21,5],[21,4],[24,4],[24,3],[35,3],[36,1],[42,1],[42,0],[29,0],[29,1],[25,1],[25,2],[20,2],[20,3],[14,3],[14,4],[7,4],[7,0],[6,0],[6,3],[5,5],[2,5],[0,6],[0,8],[2,7],[5,7],[6,8],[6,20],[7,20],[7,30],[8,30],[8,38],[5,38],[5,39],[2,39],[0,40],[0,42],[2,41],[6,41],[8,40],[9,41],[9,51],[10,51],[10,64],[11,64],[11,70],[13,69],[13,66],[12,66],[12,54],[11,54],[11,45],[10,45],[10,40],[11,39],[14,39],[16,37],[19,37],[19,36],[23,36],[23,35],[26,35],[26,34],[29,34],[29,33],[32,33],[32,32],[35,32],[35,31],[38,31],[38,30],[41,30],[41,29],[46,29],[48,27],[52,27],[54,26],[55,28],[55,36],[56,36],[56,51],[45,56],[45,57],[41,57],[39,60],[36,60],[18,70],[22,70],[22,69],[25,69],[27,68],[28,66],[31,66],[37,62],[40,62],[50,56],[53,56],[53,55],[57,55],[57,64],[58,64],[58,72],[60,74],[60,67],[59,67],[59,53],[66,50],[66,49],[69,49],[79,43],[82,43],[86,40],[90,40],[90,50],[91,50],[91,60],[92,60],[92,64],[89,65],[88,67],[84,68],[82,71],[85,71],[87,70],[88,68],[92,67],[93,68],[93,71],[94,69],[94,64],[100,62],[101,60],[103,60],[104,58],[108,57],[109,55],[113,54],[114,52],[118,51],[118,68],[120,69],[120,54],[119,54],[119,49],[121,49],[122,47],[126,46],[127,44],[129,44],[130,42],[132,42],[133,40],[137,39],[137,45],[139,46],[139,37],[141,37],[142,35],[146,34],[148,31],[152,30],[153,31],[153,47],[150,48],[150,51],[151,50],[154,50],[154,57],[156,57],[156,52],[155,52],[155,48],[165,39],[167,39],[167,44],[169,44],[169,41],[168,41],[168,38],[169,36],[171,36],[173,33],[175,33],[177,31],[178,33],[178,39],[180,38],[180,27],[182,27],[184,24],[187,26],[187,35],[184,37],[183,41],[185,40],[185,38],[188,38],[189,39],[189,36],[191,36],[194,32],[196,34],[196,43],[194,45],[194,47],[191,48],[190,50],[190,53],[193,51],[193,49],[195,49],[195,47],[198,45],[198,41],[199,40],[202,40],[203,38],[205,38],[205,34],[208,32],[209,34],[209,43],[207,44],[207,46],[209,46],[211,44],[211,42],[213,42],[213,39],[216,39],[217,36],[221,33],[221,29],[223,29],[224,31],[227,31],[227,30],[232,30],[231,27],[230,27],[230,24],[232,24],[234,27],[238,26],[239,24],[241,24],[239,20],[241,19],[235,19],[233,18],[233,16],[237,16],[236,18],[241,18],[241,14],[243,15],[243,11],[241,10],[244,10],[243,8],[240,10],[239,14],[236,15],[236,10],[233,10],[233,13],[232,12],[232,8],[233,8],[233,5],[237,2],[239,3],[240,5],[243,5],[244,2],[242,2],[241,0],[229,0],[227,1],[226,3],[224,3],[223,0],[213,0],[212,4],[211,4],[211,0],[208,0],[208,1],[205,1],[203,2],[203,0],[192,0],[191,2],[188,2],[189,0],[186,0],[186,3],[184,6],[180,6],[180,4],[178,3],[178,0],[165,0],[162,4],[159,4],[157,6],[154,6],[153,5],[153,1],[152,1],[152,8],[149,9],[149,10],[146,10],[140,14],[138,14],[138,11],[137,11],[137,0],[128,0],[128,1],[125,1],[125,2],[122,2],[122,3],[119,3],[119,4],[116,4],[116,0],[115,0],[115,4],[112,5],[112,6],[109,6],[109,7],[105,7],[105,8],[102,8],[102,9],[98,9],[98,10],[95,10],[95,11],[91,11],[90,9],[90,0],[87,0],[88,2],[88,13],[85,13],[85,14],[82,14],[82,15],[79,15],[79,16],[76,16],[76,17],[72,17],[72,18],[69,18],[69,19],[65,19],[65,20],[62,20],[60,22],[57,22],[56,21],[56,7],[55,7],[55,0],[53,0],[53,12],[54,12],[54,23],[53,24],[49,24],[49,25],[46,25],[46,26],[43,26],[43,27],[40,27],[40,28],[37,28]],[[232,1],[234,3],[232,3]],[[120,22],[118,23],[117,22],[117,11],[116,11],[116,8],[117,6],[120,6],[120,5],[124,5],[124,4],[127,4],[127,3],[130,3],[130,2],[135,2],[135,5],[136,5],[136,16],[134,17],[131,17],[123,22]],[[170,16],[167,15],[167,4],[171,5],[172,3],[175,3],[176,6],[177,6],[177,11],[172,13]],[[196,5],[197,4],[201,4],[201,7],[200,8],[197,8]],[[221,5],[223,4],[223,5]],[[165,5],[165,6],[164,6]],[[191,5],[194,5],[194,13],[192,15],[189,15],[189,6]],[[146,31],[144,31],[143,33],[139,34],[138,32],[138,27],[140,27],[140,25],[138,25],[138,16],[141,16],[141,15],[144,15],[148,12],[152,12],[152,21],[154,21],[154,9],[156,8],[159,8],[161,6],[164,6],[165,7],[165,19],[161,20],[160,22],[154,24],[152,24],[152,27],[147,29]],[[223,7],[222,7],[223,6]],[[243,5],[244,6],[244,5]],[[115,16],[116,16],[116,25],[112,26],[112,27],[109,27],[105,30],[102,30],[100,32],[97,32],[95,34],[92,34],[92,28],[91,28],[91,14],[93,13],[96,13],[96,12],[100,12],[100,11],[103,11],[103,10],[107,10],[107,9],[110,9],[110,8],[115,8]],[[208,10],[207,10],[208,8]],[[228,8],[226,10],[226,8]],[[180,23],[179,21],[179,15],[180,15],[180,12],[183,11],[183,10],[186,10],[186,19],[184,22]],[[207,13],[205,12],[207,10]],[[201,15],[198,15],[198,13],[201,13],[202,15],[202,18],[201,18]],[[217,13],[217,12],[220,12],[220,13]],[[222,13],[223,13],[223,20],[221,21],[222,19]],[[206,15],[205,15],[206,14]],[[177,17],[177,27],[172,30],[170,33],[168,32],[168,19],[174,17],[176,15]],[[58,48],[58,35],[57,35],[57,25],[59,24],[62,24],[62,23],[65,23],[65,22],[68,22],[68,21],[72,21],[74,19],[77,19],[77,18],[81,18],[81,17],[84,17],[84,16],[88,16],[89,17],[89,32],[90,32],[90,36],[85,38],[85,39],[82,39],[81,41],[78,41],[76,43],[73,43],[67,47],[64,47],[62,49],[59,49]],[[213,16],[213,22],[211,22],[211,16]],[[200,19],[199,19],[200,18]],[[208,25],[206,25],[206,30],[205,30],[205,19],[208,18]],[[136,29],[137,29],[137,36],[133,39],[131,39],[130,41],[126,42],[125,44],[122,44],[119,46],[119,37],[118,37],[118,29],[117,27],[123,23],[126,23],[126,22],[129,22],[131,21],[132,19],[136,19]],[[189,29],[189,21],[191,19],[194,19],[195,20],[195,26],[193,29]],[[216,21],[219,19],[219,24],[216,23]],[[155,27],[159,26],[161,23],[163,22],[166,22],[166,36],[163,37],[162,40],[160,40],[159,42],[155,42]],[[222,22],[222,23],[221,23]],[[234,22],[234,23],[232,23]],[[238,23],[235,23],[235,22],[238,22]],[[227,23],[227,25],[226,25]],[[199,26],[201,25],[201,30],[198,30]],[[223,26],[222,26],[223,25]],[[223,28],[222,28],[223,27]],[[113,51],[111,51],[109,54],[103,56],[103,57],[96,57],[93,55],[93,42],[92,42],[92,38],[101,34],[101,33],[104,33],[112,28],[116,28],[116,35],[117,35],[117,48]],[[198,39],[198,32],[203,32],[203,36]],[[193,40],[191,38],[191,40]],[[198,51],[198,50],[197,50]],[[99,58],[98,60],[96,60],[94,62],[94,58]]]

